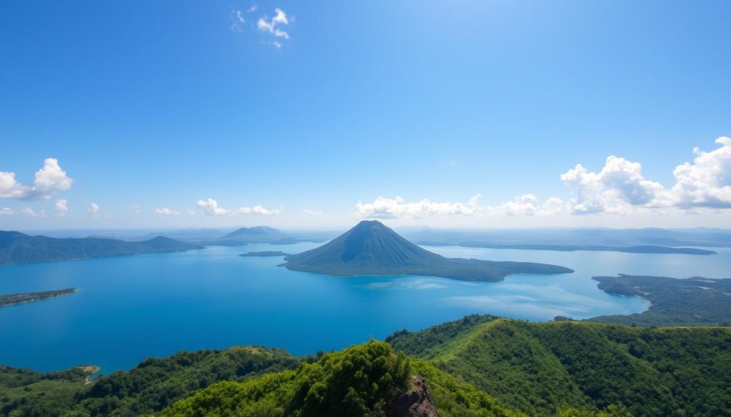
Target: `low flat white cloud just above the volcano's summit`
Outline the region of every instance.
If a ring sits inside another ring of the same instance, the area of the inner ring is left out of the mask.
[[[420,202],[405,202],[403,198],[397,196],[395,199],[386,199],[378,197],[372,203],[358,202],[355,209],[358,215],[366,218],[421,218],[431,215],[474,215],[477,213],[479,205],[477,194],[469,199],[466,204],[457,202],[432,202],[423,199]]]

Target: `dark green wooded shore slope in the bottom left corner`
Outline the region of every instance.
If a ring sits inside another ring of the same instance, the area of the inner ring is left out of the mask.
[[[175,400],[221,380],[246,380],[294,369],[308,358],[257,346],[224,351],[181,351],[146,359],[129,372],[84,385],[79,369],[39,374],[0,368],[0,416],[115,416],[156,413]]]

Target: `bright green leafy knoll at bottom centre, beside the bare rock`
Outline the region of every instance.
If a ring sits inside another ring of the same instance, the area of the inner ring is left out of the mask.
[[[163,416],[381,416],[409,388],[409,359],[370,342],[325,353],[314,364],[247,383],[218,383],[175,403]]]

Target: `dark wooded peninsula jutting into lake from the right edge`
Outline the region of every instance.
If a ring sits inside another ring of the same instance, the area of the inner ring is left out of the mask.
[[[634,275],[594,277],[609,294],[648,299],[650,308],[630,315],[591,318],[614,324],[685,326],[731,323],[731,279],[667,278]]]

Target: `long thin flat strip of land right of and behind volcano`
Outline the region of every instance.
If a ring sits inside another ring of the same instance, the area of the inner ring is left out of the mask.
[[[625,253],[681,253],[685,255],[715,255],[715,250],[697,248],[669,248],[667,246],[640,245],[640,246],[607,246],[607,245],[537,245],[531,243],[491,243],[491,242],[462,242],[465,248],[492,248],[492,249],[528,249],[528,250],[559,250],[573,252],[575,250],[625,252]]]

